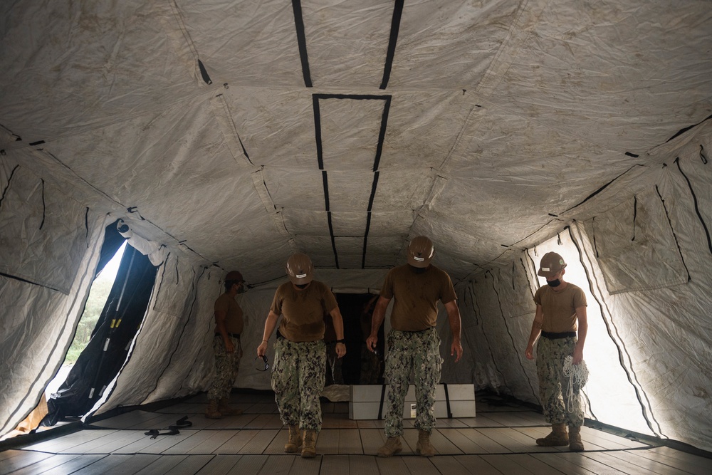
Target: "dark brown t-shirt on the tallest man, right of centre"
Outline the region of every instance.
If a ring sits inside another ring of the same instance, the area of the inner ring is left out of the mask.
[[[394,298],[391,327],[400,331],[421,331],[434,327],[438,301],[448,303],[457,296],[450,276],[436,266],[415,273],[408,264],[391,269],[381,289],[383,298]]]

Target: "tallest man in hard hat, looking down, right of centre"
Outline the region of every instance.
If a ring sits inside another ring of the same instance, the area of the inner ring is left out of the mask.
[[[435,427],[435,395],[442,365],[441,342],[435,329],[438,301],[444,304],[448,315],[452,333],[450,355],[456,355],[455,362],[462,357],[460,310],[455,290],[450,276],[430,263],[434,254],[433,242],[428,237],[412,239],[407,249],[408,263],[389,271],[373,312],[371,335],[366,341],[371,351],[376,349],[378,329],[385,318],[386,308],[391,299],[395,299],[384,371],[388,381],[387,441],[378,449],[378,456],[392,456],[402,451],[403,407],[411,372],[415,375],[417,403],[414,423],[418,429],[416,451],[422,456],[435,454],[430,434]]]

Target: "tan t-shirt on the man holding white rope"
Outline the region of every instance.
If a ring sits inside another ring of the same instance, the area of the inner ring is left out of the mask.
[[[575,332],[578,328],[576,309],[586,306],[586,294],[580,287],[567,282],[566,288],[560,292],[553,291],[550,286],[540,287],[534,294],[534,302],[544,313],[542,331]]]

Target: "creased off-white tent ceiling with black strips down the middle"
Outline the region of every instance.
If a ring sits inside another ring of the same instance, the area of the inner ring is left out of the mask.
[[[2,147],[252,283],[296,250],[387,268],[417,234],[460,281],[711,115],[708,6],[18,1]]]

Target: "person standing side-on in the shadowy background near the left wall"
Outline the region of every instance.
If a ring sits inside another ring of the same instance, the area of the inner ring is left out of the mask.
[[[242,414],[241,409],[233,409],[228,403],[242,357],[240,333],[244,327],[244,319],[235,296],[244,289],[244,283],[244,278],[238,271],[227,273],[224,282],[225,293],[215,301],[215,376],[208,390],[208,407],[205,410],[205,417],[209,419]]]

